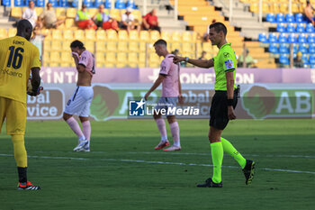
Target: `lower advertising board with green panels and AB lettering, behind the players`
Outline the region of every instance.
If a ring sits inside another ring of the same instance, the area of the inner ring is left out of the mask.
[[[61,120],[67,99],[73,94],[75,84],[44,84],[45,91],[36,100],[28,98],[29,120]],[[94,84],[94,99],[91,117],[96,121],[127,119],[130,116],[130,100],[139,102],[151,84]],[[209,118],[211,96],[214,90],[209,85],[184,85],[184,103],[179,105],[190,114],[179,118]],[[153,92],[148,102],[151,108],[140,118],[151,118],[152,107],[157,105],[160,89]],[[311,84],[299,86],[284,84],[241,85],[236,113],[238,119],[311,118],[314,112],[315,87]],[[148,103],[147,102],[147,103]],[[138,105],[137,105],[138,106]],[[136,107],[137,108],[137,107]],[[135,108],[134,108],[135,109]],[[198,114],[194,112],[198,109]],[[135,111],[135,110],[134,110]],[[183,112],[184,112],[183,111]],[[137,117],[139,118],[139,117]]]

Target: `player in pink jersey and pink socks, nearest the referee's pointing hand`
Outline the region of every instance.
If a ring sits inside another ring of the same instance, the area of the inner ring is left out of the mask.
[[[162,83],[162,96],[158,100],[157,106],[155,109],[168,109],[175,106],[178,102],[178,99],[181,100],[182,88],[179,79],[179,65],[173,63],[173,59],[169,58],[174,56],[167,51],[167,43],[164,40],[158,40],[154,44],[156,53],[158,56],[163,56],[165,59],[162,60],[160,65],[159,76],[153,86],[148,90],[148,93],[144,98],[147,100],[148,96],[153,92],[161,83]],[[154,113],[153,115],[158,131],[161,134],[161,141],[158,143],[155,150],[161,150],[169,145],[166,134],[166,123],[161,117],[161,114]],[[179,126],[176,122],[175,115],[167,115],[167,121],[172,132],[174,144],[164,149],[164,151],[180,151],[180,139],[179,139]]]

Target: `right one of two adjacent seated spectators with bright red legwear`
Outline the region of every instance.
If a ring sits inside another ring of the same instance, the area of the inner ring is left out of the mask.
[[[108,14],[108,12],[103,11],[103,5],[98,6],[98,13],[94,15],[93,21],[97,27],[102,27],[104,30],[113,29],[117,31],[118,23],[116,20]]]

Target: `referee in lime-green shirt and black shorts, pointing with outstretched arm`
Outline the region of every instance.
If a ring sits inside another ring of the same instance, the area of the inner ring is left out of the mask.
[[[209,60],[174,57],[174,62],[186,61],[200,68],[214,67],[215,94],[211,101],[209,141],[211,142],[211,160],[213,164],[212,178],[208,178],[197,187],[222,187],[221,165],[223,152],[228,153],[242,168],[246,184],[250,184],[254,177],[255,162],[246,160],[226,139],[221,132],[228,125],[229,120],[236,119],[234,109],[238,103],[238,88],[235,86],[237,59],[230,43],[226,40],[227,28],[223,23],[212,23],[209,26],[209,39],[212,45],[219,48],[216,57]]]

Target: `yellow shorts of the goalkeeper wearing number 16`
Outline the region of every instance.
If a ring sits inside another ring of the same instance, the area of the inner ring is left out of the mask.
[[[23,135],[26,123],[26,104],[0,96],[0,132],[6,119],[6,133]]]

